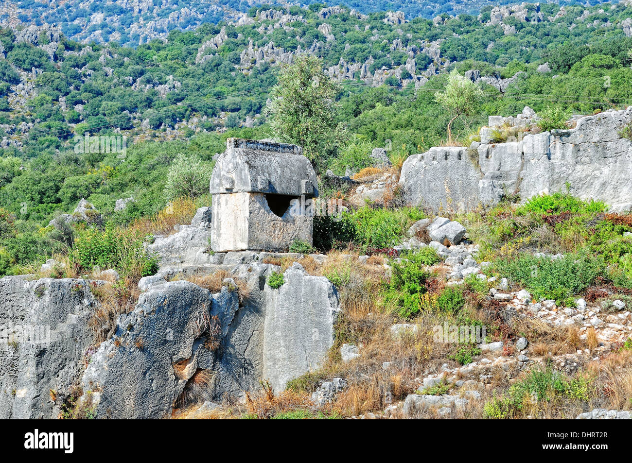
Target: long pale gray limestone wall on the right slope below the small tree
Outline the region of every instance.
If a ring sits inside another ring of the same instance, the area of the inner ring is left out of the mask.
[[[534,115],[492,116],[481,142],[433,147],[404,162],[399,186],[408,203],[470,209],[497,203],[507,193],[522,201],[540,193],[566,191],[605,201],[612,210],[632,207],[629,178],[632,141],[619,134],[632,108],[578,117],[570,129],[530,133]],[[509,124],[516,135],[504,143],[490,133]]]

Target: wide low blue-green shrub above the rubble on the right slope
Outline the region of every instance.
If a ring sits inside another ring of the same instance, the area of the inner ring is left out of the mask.
[[[605,275],[605,265],[600,258],[578,254],[552,259],[525,253],[513,260],[496,260],[494,269],[507,279],[526,286],[537,298],[555,299],[558,304],[569,305],[572,303],[565,299]]]

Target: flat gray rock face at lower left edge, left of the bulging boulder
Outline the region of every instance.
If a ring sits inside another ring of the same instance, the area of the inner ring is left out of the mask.
[[[58,418],[94,343],[88,281],[4,277],[0,304],[0,418]]]

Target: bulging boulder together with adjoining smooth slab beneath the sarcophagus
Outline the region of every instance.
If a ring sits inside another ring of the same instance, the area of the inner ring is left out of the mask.
[[[255,392],[261,381],[279,392],[291,378],[318,368],[334,340],[335,287],[295,263],[284,272],[283,286],[271,289],[267,275],[279,267],[246,254],[250,263],[202,267],[246,280],[249,295],[241,303],[230,278],[217,294],[162,275],[141,281],[145,292],[135,310],[119,318],[116,334],[100,345],[83,375],[99,418],[161,418],[186,394],[217,401]],[[221,328],[210,347],[197,328],[205,312],[217,316]],[[211,379],[193,388],[196,374]]]

